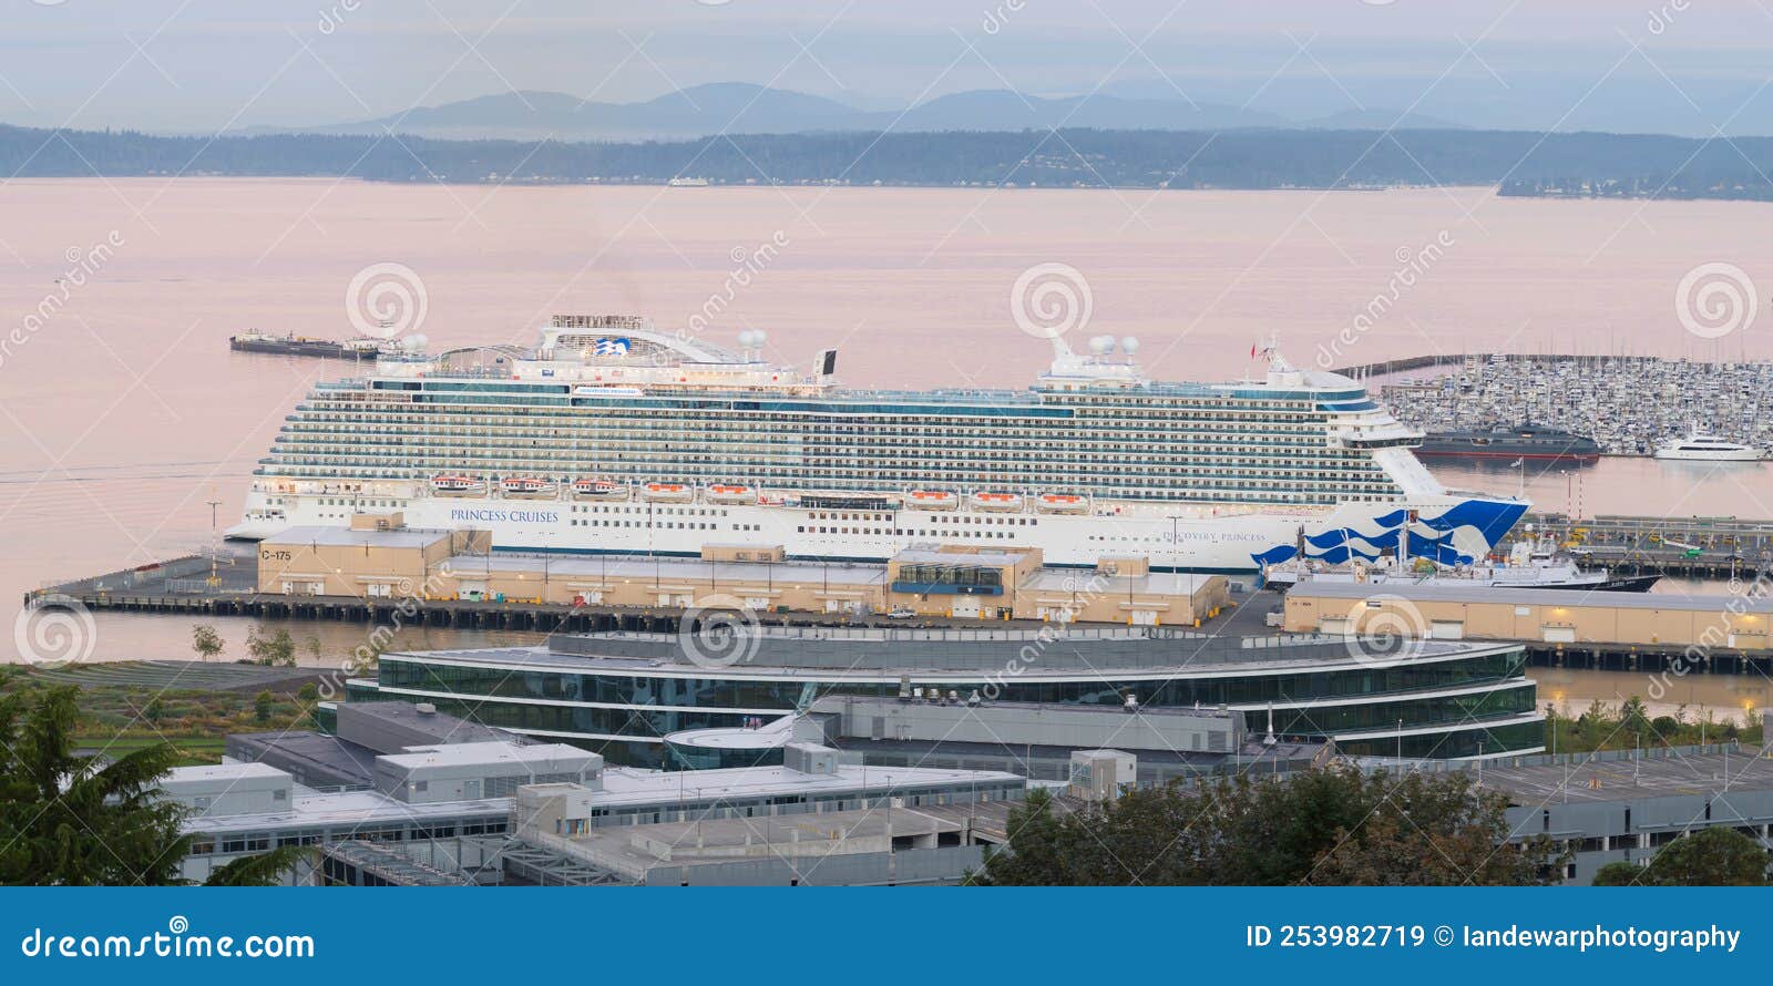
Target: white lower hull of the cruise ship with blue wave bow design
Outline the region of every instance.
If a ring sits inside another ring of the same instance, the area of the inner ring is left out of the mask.
[[[348,527],[353,513],[387,511],[337,497],[252,493],[229,537],[262,539],[296,525]],[[1246,573],[1298,557],[1346,562],[1395,553],[1443,564],[1484,557],[1527,511],[1519,500],[1461,495],[1351,502],[1321,511],[1174,504],[1101,505],[1090,514],[867,511],[732,504],[583,504],[465,497],[399,498],[408,527],[479,528],[507,550],[699,555],[704,544],[782,544],[796,559],[885,562],[920,543],[1039,548],[1050,566],[1094,567],[1145,557],[1156,569]],[[1411,511],[1415,513],[1411,520]],[[1303,528],[1303,537],[1301,537]]]

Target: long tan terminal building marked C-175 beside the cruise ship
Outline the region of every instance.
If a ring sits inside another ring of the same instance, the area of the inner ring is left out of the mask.
[[[796,560],[777,544],[707,544],[699,559],[489,548],[484,530],[408,528],[399,514],[294,527],[259,544],[259,592],[1135,626],[1193,624],[1230,599],[1218,575],[1151,573],[1145,559],[1050,569],[1037,548],[917,544],[885,566]]]

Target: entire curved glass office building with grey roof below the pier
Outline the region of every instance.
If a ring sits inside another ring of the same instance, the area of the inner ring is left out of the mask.
[[[353,699],[441,711],[663,766],[665,736],[769,722],[824,695],[1225,708],[1250,732],[1344,754],[1537,752],[1518,644],[1211,638],[1183,630],[750,630],[720,660],[676,633],[557,637],[541,647],[388,653]]]

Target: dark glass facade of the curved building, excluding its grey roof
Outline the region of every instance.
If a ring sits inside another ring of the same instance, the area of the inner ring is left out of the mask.
[[[667,766],[667,734],[688,729],[746,725],[757,715],[787,715],[814,699],[833,693],[897,695],[899,685],[832,681],[768,681],[752,677],[637,676],[598,670],[521,670],[514,667],[427,661],[422,656],[383,656],[378,699],[434,702],[438,709],[486,725],[537,731],[601,752],[612,763]],[[1535,708],[1535,690],[1525,677],[1525,653],[1502,651],[1450,661],[1340,670],[1280,670],[1243,677],[1002,681],[982,676],[963,681],[952,676],[920,681],[966,695],[973,690],[1011,702],[1073,702],[1122,706],[1128,695],[1144,706],[1193,708],[1246,706],[1245,727],[1262,734],[1326,738],[1344,732],[1374,732],[1445,727],[1441,732],[1404,736],[1404,755],[1454,757],[1527,750],[1543,743],[1539,724],[1498,725],[1495,734],[1473,724],[1504,724]],[[1438,693],[1459,692],[1459,693]],[[353,693],[353,697],[356,697]],[[502,700],[505,699],[505,700]],[[1337,702],[1335,699],[1347,699]],[[1356,700],[1360,699],[1360,700]],[[537,704],[543,702],[543,704]],[[596,704],[589,704],[596,702]],[[1273,713],[1264,706],[1275,702]],[[1287,708],[1321,702],[1308,708]],[[1461,732],[1466,729],[1466,734]],[[621,740],[605,740],[605,738]],[[1392,755],[1395,740],[1339,743],[1346,752]],[[1371,747],[1371,750],[1369,750]],[[1411,752],[1415,750],[1415,752]],[[704,750],[691,754],[702,755]],[[748,752],[755,757],[755,752]],[[706,757],[704,757],[706,759]],[[746,766],[754,763],[748,761]],[[732,764],[716,764],[732,766]]]

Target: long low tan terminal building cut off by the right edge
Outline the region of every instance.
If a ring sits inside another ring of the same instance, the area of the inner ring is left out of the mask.
[[[1773,598],[1489,589],[1482,585],[1298,583],[1291,633],[1395,633],[1440,640],[1534,640],[1766,651]]]

